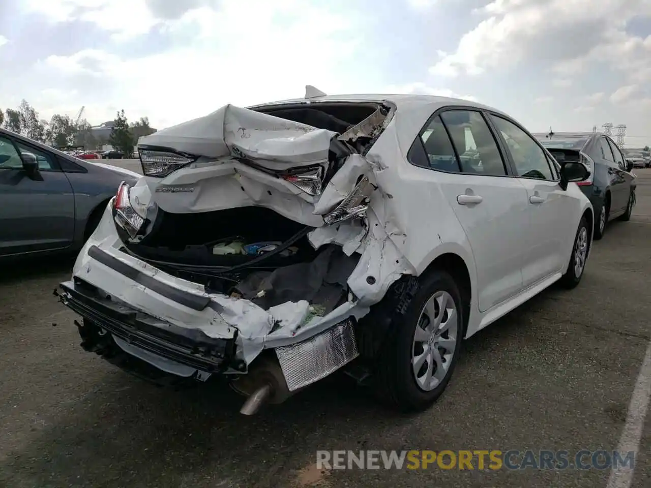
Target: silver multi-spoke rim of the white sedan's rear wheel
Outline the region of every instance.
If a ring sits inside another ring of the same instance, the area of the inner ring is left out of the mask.
[[[421,390],[432,391],[445,379],[459,329],[459,314],[452,295],[437,291],[422,308],[413,334],[411,364]]]

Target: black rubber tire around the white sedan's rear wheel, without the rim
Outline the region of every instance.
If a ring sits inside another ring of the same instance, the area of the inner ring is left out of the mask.
[[[441,291],[449,293],[456,306],[456,344],[445,377],[432,390],[426,391],[417,384],[413,372],[413,340],[424,306],[435,293]],[[393,409],[408,413],[430,407],[441,396],[459,357],[465,335],[464,314],[462,295],[449,273],[430,271],[419,278],[419,286],[404,309],[404,313],[392,320],[385,336],[376,375],[376,389],[382,401]]]

